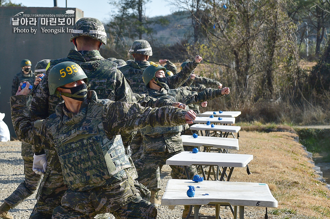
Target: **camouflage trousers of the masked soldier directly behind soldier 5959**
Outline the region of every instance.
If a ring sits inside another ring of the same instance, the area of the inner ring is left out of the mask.
[[[143,153],[141,158],[134,162],[139,175],[137,180],[148,188],[148,185],[152,183],[150,181],[152,180],[153,175],[156,174],[156,170],[159,168],[159,165],[164,165],[166,163],[166,159],[180,153],[181,151],[182,150],[169,153],[166,149],[165,152]],[[170,165],[170,167],[172,168],[171,176],[173,179],[187,179],[184,172],[184,166]],[[187,170],[190,179],[197,174],[196,168],[188,166]]]

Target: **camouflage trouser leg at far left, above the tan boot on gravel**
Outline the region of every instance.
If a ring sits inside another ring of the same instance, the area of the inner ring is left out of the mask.
[[[27,197],[32,195],[40,182],[41,175],[35,174],[32,170],[33,157],[23,157],[25,180],[21,182],[16,190],[4,201],[14,208]]]

